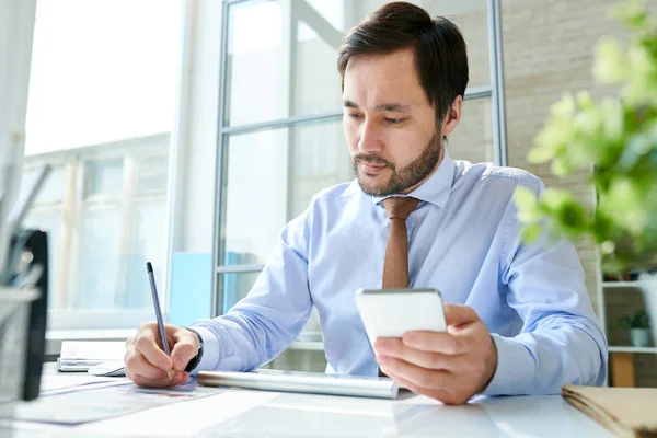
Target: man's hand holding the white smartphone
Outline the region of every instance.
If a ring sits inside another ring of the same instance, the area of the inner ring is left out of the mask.
[[[497,349],[471,307],[446,303],[445,315],[447,333],[378,338],[374,353],[381,370],[400,385],[446,404],[462,404],[493,378]]]

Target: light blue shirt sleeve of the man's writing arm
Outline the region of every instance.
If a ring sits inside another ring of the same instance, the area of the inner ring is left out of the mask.
[[[191,327],[204,342],[193,374],[203,370],[249,371],[283,353],[310,316],[308,286],[310,208],[288,223],[249,295],[226,315]]]

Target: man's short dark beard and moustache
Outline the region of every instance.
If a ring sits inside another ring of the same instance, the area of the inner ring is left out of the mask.
[[[356,174],[360,189],[370,196],[382,197],[402,193],[418,184],[434,172],[436,165],[440,161],[442,155],[442,141],[440,140],[440,136],[434,134],[434,137],[431,137],[429,143],[419,157],[413,160],[408,165],[399,170],[394,163],[373,153],[359,153],[353,157],[351,165],[354,166],[354,173]],[[369,164],[385,165],[391,170],[392,174],[387,183],[380,185],[368,184],[364,181],[367,176],[361,175],[358,171],[359,161]]]

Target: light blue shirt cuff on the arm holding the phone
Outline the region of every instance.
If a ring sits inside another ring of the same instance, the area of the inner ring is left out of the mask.
[[[521,395],[534,380],[535,364],[517,339],[492,333],[497,348],[497,368],[493,379],[482,392],[484,395]]]

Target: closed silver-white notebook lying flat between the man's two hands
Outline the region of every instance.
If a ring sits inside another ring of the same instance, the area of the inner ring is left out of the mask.
[[[196,376],[196,381],[207,387],[230,387],[374,399],[396,399],[399,393],[397,384],[389,378],[350,377],[268,369],[258,369],[252,372],[200,371]]]

